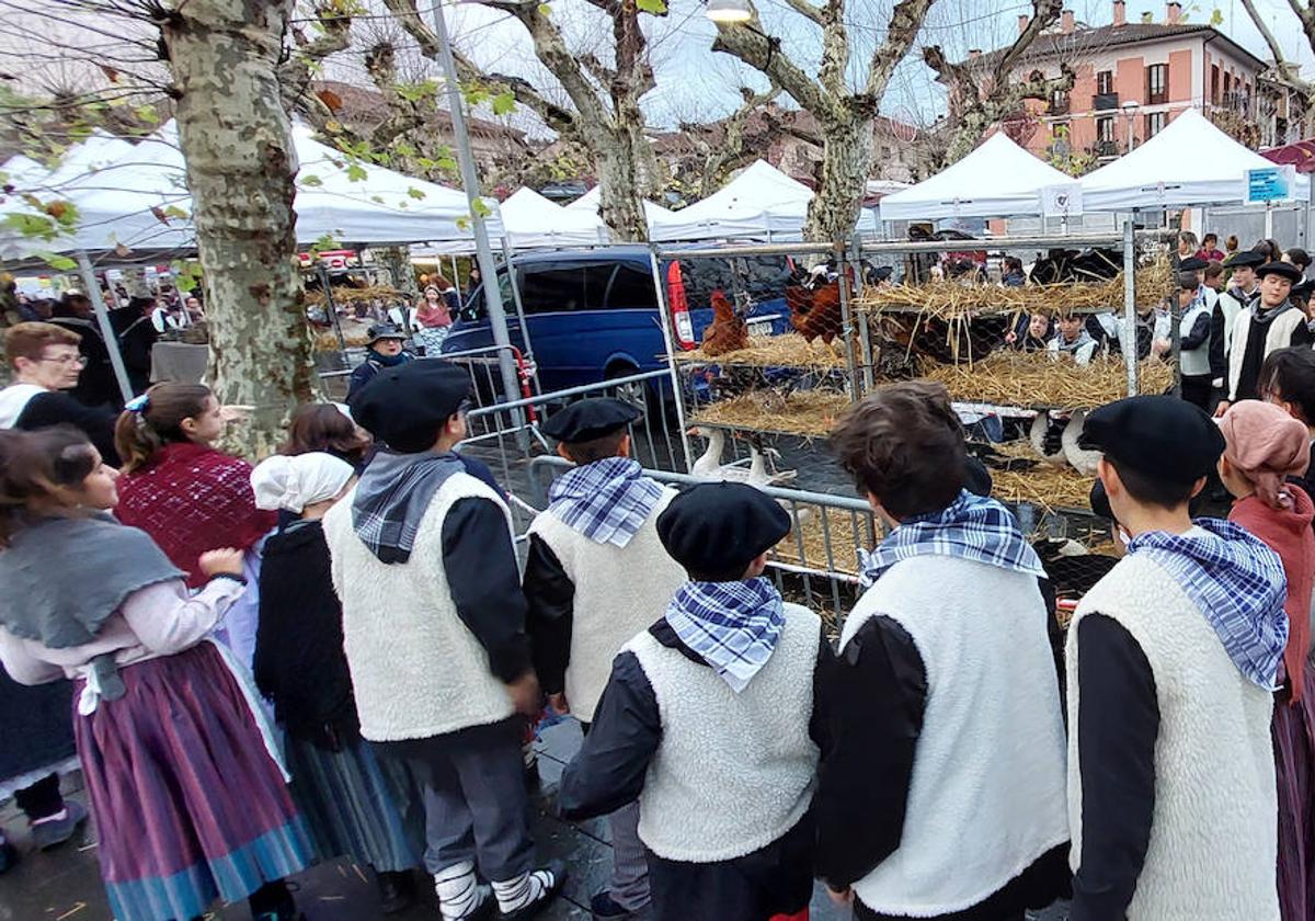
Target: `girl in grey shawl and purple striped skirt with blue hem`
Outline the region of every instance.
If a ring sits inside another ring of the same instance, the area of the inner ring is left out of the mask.
[[[200,555],[201,584],[99,510],[116,472],[80,433],[0,432],[0,663],[74,679],[74,733],[118,921],[181,921],[216,897],[287,921],[309,845],[254,689],[205,638],[243,589],[242,553]]]

